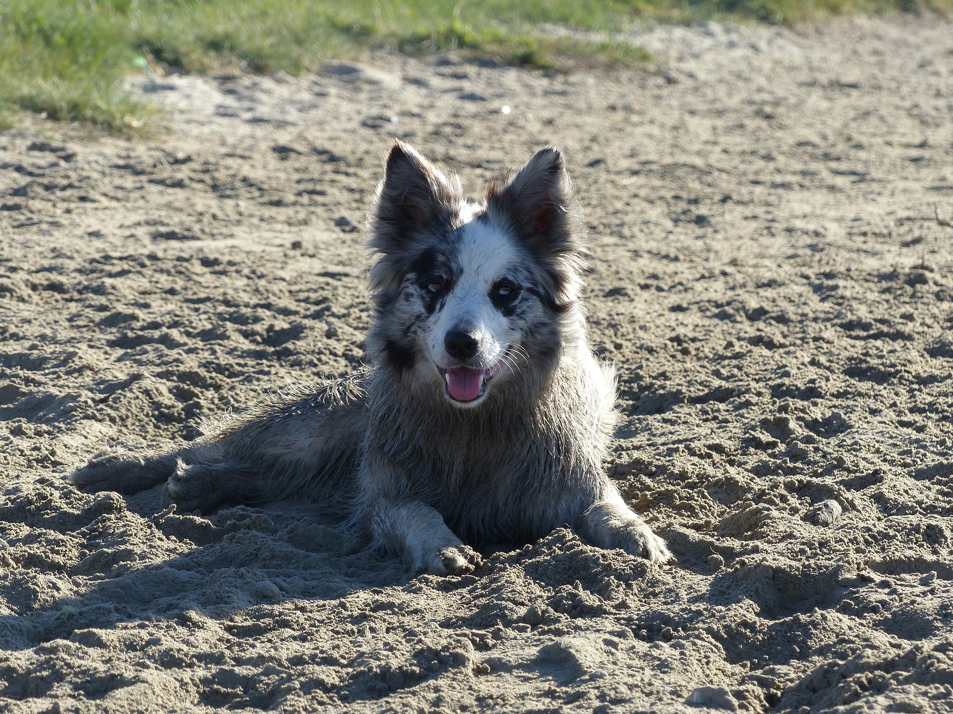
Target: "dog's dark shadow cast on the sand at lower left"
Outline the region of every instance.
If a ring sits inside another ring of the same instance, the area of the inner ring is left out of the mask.
[[[61,487],[58,495],[70,500],[71,486]],[[78,562],[10,577],[4,596],[13,614],[0,616],[7,646],[30,649],[124,621],[178,620],[190,610],[224,619],[286,600],[340,600],[415,577],[314,506],[230,505],[197,515],[164,508],[160,491],[94,494],[79,510],[4,508],[5,521],[51,543],[82,539]]]

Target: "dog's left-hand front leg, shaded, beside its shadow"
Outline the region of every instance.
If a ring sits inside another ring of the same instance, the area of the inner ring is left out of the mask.
[[[402,557],[416,572],[469,573],[482,565],[431,506],[420,501],[377,499],[365,506],[375,544]]]

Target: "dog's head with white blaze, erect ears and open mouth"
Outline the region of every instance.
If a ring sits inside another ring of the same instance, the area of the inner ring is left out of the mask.
[[[369,247],[379,253],[372,358],[457,407],[482,403],[516,374],[555,367],[566,328],[580,322],[581,218],[556,147],[474,203],[456,175],[395,142]]]

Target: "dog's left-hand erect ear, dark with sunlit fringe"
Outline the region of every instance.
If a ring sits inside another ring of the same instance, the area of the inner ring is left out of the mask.
[[[369,248],[399,252],[421,233],[452,224],[462,193],[456,176],[448,179],[416,149],[395,140],[371,210]]]

